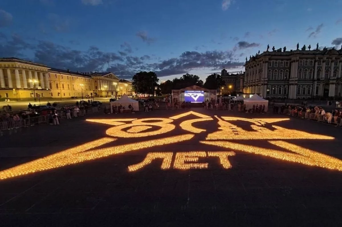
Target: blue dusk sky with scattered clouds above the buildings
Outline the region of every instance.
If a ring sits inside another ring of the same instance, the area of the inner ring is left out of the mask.
[[[287,46],[340,46],[342,0],[1,0],[0,57],[50,67],[140,70],[203,80],[246,56]],[[109,65],[109,68],[108,68]]]

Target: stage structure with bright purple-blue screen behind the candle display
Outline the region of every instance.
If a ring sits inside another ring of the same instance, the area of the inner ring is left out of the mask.
[[[189,86],[179,90],[172,90],[172,102],[186,101],[190,103],[202,103],[208,99],[216,101],[216,90],[209,90],[200,86]]]

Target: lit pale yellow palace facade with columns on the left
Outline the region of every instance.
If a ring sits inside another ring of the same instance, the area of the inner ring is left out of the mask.
[[[0,100],[86,99],[134,95],[132,83],[111,72],[71,72],[18,58],[0,58]]]

